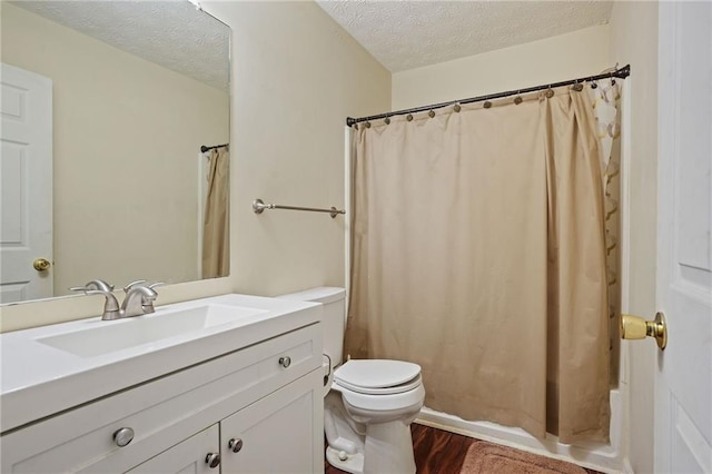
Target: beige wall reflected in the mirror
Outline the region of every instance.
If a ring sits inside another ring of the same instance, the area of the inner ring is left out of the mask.
[[[53,81],[55,295],[197,279],[199,147],[227,141],[228,93],[7,2],[2,61]]]

